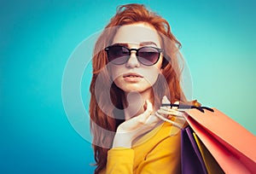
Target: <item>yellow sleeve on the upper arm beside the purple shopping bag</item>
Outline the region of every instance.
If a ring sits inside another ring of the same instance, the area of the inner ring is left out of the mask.
[[[148,153],[136,173],[181,173],[180,150],[180,133],[166,137]]]

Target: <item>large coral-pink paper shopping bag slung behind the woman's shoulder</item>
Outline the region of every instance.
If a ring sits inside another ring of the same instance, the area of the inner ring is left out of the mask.
[[[187,111],[189,126],[225,173],[256,173],[256,137],[214,108]]]

